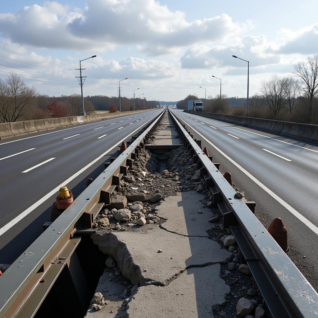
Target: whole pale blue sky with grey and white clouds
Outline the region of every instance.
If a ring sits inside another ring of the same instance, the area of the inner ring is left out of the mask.
[[[136,93],[156,100],[250,95],[272,73],[318,53],[317,0],[2,0],[0,78],[19,73],[40,93]],[[24,62],[24,63],[21,63]]]

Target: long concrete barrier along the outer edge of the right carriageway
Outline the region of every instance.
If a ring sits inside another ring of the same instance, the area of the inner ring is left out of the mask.
[[[275,134],[287,135],[299,139],[318,142],[318,125],[225,114],[215,114],[207,112],[194,112],[192,110],[187,109],[184,109],[184,112],[196,114],[203,117],[218,119],[221,121],[228,121],[234,124],[240,124],[252,128],[267,130]]]

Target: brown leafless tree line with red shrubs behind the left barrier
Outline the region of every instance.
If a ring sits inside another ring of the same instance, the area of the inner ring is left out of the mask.
[[[142,106],[144,103],[144,106]],[[160,105],[152,101],[152,106]],[[148,102],[141,100],[140,108],[147,108]],[[149,108],[150,108],[149,102]],[[111,107],[113,106],[113,107]],[[84,98],[87,115],[95,110],[119,109],[119,98],[104,95]],[[116,108],[117,107],[117,108]],[[139,109],[139,99],[121,97],[121,111]],[[37,92],[34,86],[28,86],[16,74],[10,74],[6,80],[0,79],[0,122],[35,120],[82,115],[82,99],[80,94],[48,96]]]

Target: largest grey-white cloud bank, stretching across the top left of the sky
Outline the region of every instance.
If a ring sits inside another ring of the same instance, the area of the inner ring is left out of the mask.
[[[85,10],[57,2],[24,7],[0,15],[0,32],[12,42],[39,48],[109,50],[116,45],[142,45],[157,55],[167,48],[197,42],[224,41],[251,28],[227,14],[188,22],[182,11],[171,11],[155,0],[88,0]],[[164,52],[164,51],[163,51]]]

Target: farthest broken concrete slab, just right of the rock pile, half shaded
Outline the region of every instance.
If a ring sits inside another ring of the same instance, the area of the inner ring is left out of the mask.
[[[206,231],[211,229],[208,220],[214,213],[200,202],[203,198],[196,191],[165,198],[157,207],[157,216],[167,219],[161,227],[181,235],[208,237]],[[202,213],[199,214],[198,210]]]

